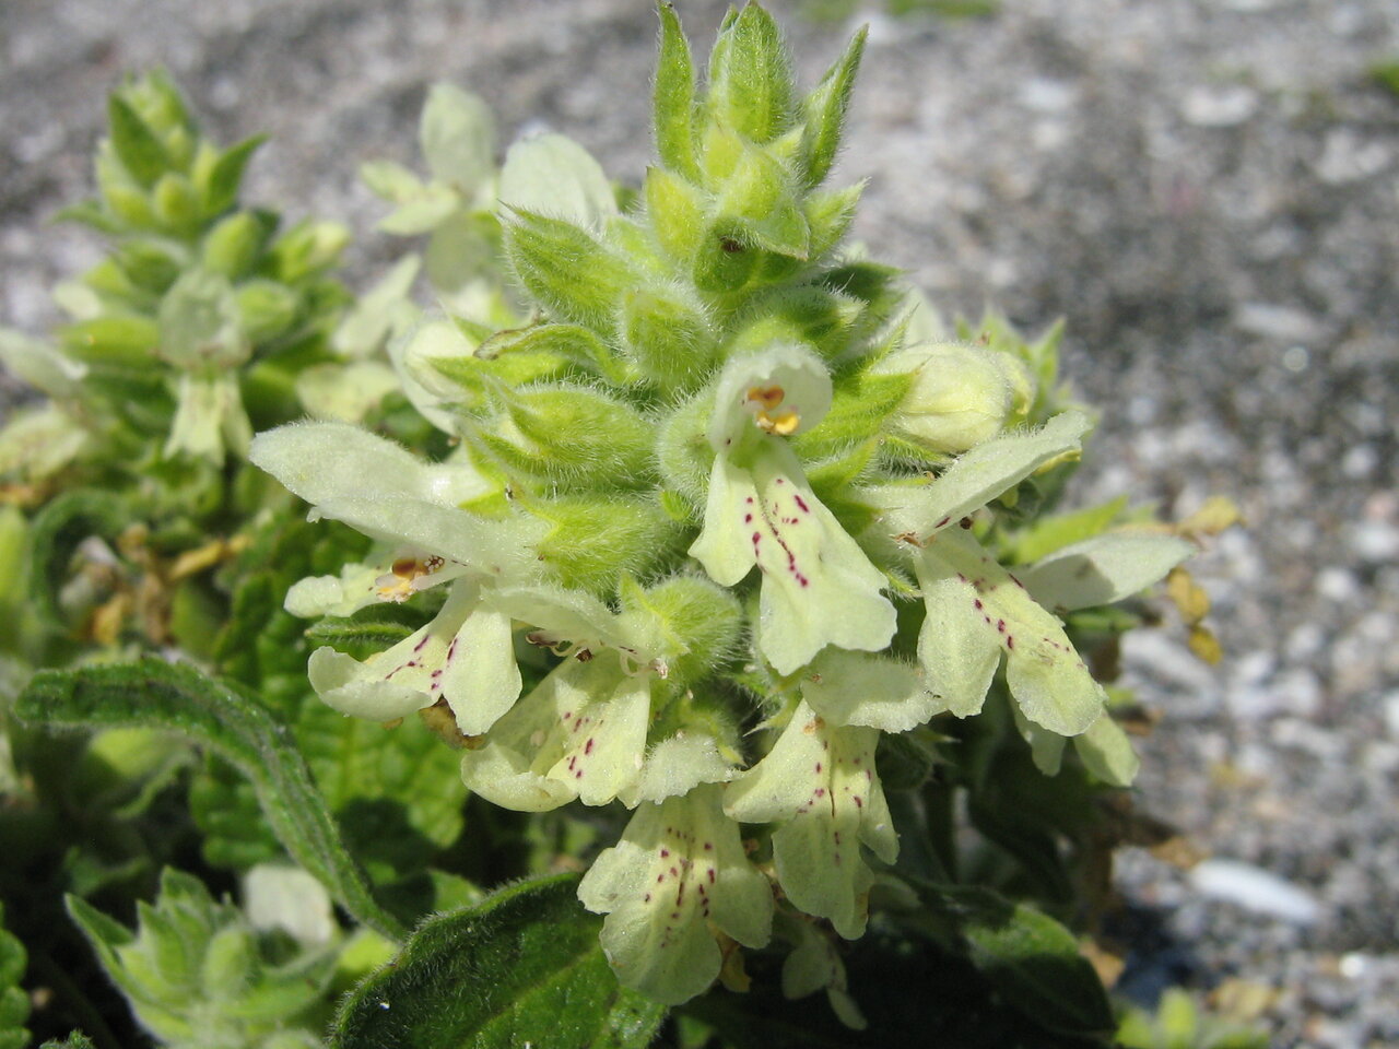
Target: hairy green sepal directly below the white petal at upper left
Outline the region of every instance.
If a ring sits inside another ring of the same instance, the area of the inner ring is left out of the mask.
[[[590,327],[604,338],[616,333],[617,306],[635,277],[588,231],[515,211],[505,222],[505,253],[525,288],[558,319]]]

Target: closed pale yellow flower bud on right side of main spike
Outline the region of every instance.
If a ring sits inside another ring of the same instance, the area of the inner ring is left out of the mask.
[[[916,345],[887,357],[877,372],[914,378],[893,418],[894,432],[947,455],[996,436],[1014,393],[1007,365],[1000,354],[960,343]]]

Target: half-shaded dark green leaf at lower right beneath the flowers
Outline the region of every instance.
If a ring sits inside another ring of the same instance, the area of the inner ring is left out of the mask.
[[[989,894],[988,894],[989,895]],[[1073,933],[1024,904],[986,909],[963,925],[972,964],[1014,1008],[1065,1034],[1108,1034],[1112,1007]]]

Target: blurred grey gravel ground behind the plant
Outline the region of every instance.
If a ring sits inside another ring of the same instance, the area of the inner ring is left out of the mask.
[[[679,6],[697,36],[722,11]],[[0,0],[0,316],[41,330],[49,284],[95,257],[43,218],[90,189],[122,70],[169,66],[225,140],[270,131],[252,199],[351,222],[365,278],[400,245],[368,232],[379,207],[355,166],[414,162],[434,80],[485,95],[508,131],[544,122],[635,176],[649,7]],[[810,83],[849,27],[771,7]],[[1399,1043],[1399,98],[1367,76],[1399,57],[1399,7],[862,17],[842,168],[870,179],[858,235],[949,312],[1067,317],[1067,369],[1102,408],[1084,498],[1130,491],[1185,515],[1226,492],[1248,516],[1198,572],[1224,663],[1193,662],[1171,629],[1125,662],[1164,713],[1142,745],[1144,800],[1251,866],[1206,878],[1128,855],[1123,888],[1161,908],[1202,980],[1276,990],[1277,1045]]]

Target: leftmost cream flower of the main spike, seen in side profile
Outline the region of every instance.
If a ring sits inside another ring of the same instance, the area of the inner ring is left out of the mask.
[[[428,466],[397,445],[333,422],[262,434],[252,460],[311,502],[312,516],[339,518],[397,544],[378,571],[357,565],[340,579],[302,580],[288,593],[292,611],[347,614],[452,583],[434,620],[386,652],[362,663],[332,648],[313,652],[308,669],[318,695],[374,720],[445,699],[463,734],[490,729],[519,697],[522,681],[512,608],[484,596],[504,582],[537,583],[525,552],[526,526],[485,520],[457,505],[491,491],[490,484],[466,463]],[[572,608],[555,589],[537,586],[540,618],[532,621]]]

